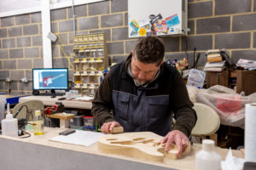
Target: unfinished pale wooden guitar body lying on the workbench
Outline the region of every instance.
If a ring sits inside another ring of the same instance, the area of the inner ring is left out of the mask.
[[[98,148],[104,153],[142,158],[150,161],[177,159],[177,146],[172,144],[166,152],[165,144],[160,144],[162,136],[150,132],[107,134],[98,140]],[[189,147],[183,154],[190,151]]]

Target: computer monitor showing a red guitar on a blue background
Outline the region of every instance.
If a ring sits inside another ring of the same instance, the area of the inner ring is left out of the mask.
[[[68,89],[67,68],[33,69],[32,76],[34,90]]]

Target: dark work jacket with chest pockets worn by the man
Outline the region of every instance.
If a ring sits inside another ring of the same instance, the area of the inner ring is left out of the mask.
[[[165,136],[172,130],[174,113],[174,129],[189,136],[196,115],[180,74],[163,64],[154,82],[147,88],[137,87],[127,72],[126,65],[130,62],[131,56],[113,65],[96,90],[91,110],[96,122],[102,126],[104,122],[116,121],[125,132],[150,131]]]

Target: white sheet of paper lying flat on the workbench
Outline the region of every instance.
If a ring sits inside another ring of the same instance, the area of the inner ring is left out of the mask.
[[[105,134],[84,131],[84,130],[76,130],[75,133],[68,134],[67,136],[59,135],[49,140],[66,143],[66,144],[78,144],[78,145],[89,146],[90,144],[96,143],[98,139],[103,135]]]

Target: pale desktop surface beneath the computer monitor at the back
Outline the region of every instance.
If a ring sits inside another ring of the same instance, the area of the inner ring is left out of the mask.
[[[31,100],[41,100],[44,105],[55,105],[56,102],[61,102],[64,107],[66,108],[77,108],[77,109],[91,109],[91,102],[90,101],[79,101],[79,100],[71,100],[71,99],[63,99],[58,100],[59,98],[62,98],[62,96],[57,96],[55,98],[51,98],[50,96],[27,96],[24,98],[20,98],[20,102],[24,101],[31,101]]]

